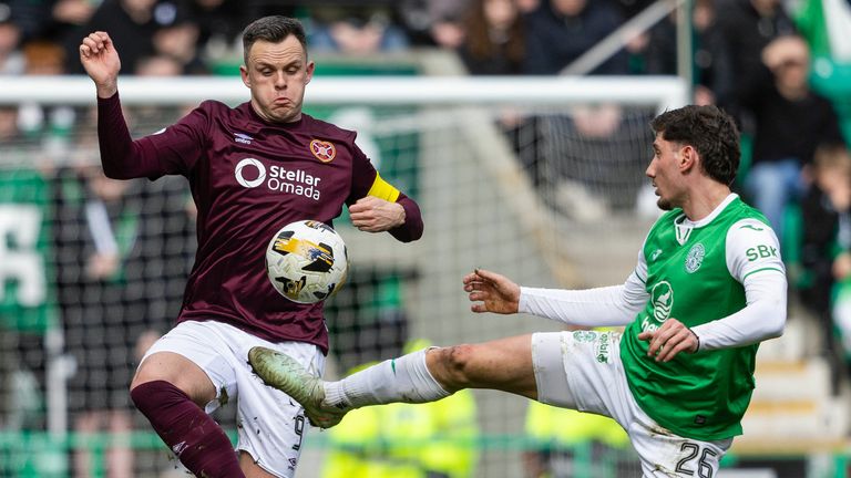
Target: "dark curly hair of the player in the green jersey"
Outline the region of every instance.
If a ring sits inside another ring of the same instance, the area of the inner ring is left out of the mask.
[[[668,142],[697,149],[704,172],[727,186],[739,169],[739,129],[717,106],[684,106],[667,111],[650,122],[656,134]]]

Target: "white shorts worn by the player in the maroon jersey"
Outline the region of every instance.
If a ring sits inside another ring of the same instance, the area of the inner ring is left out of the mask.
[[[245,450],[258,466],[281,478],[291,478],[301,454],[301,439],[310,425],[301,405],[284,392],[266,386],[248,364],[257,345],[286,353],[306,370],[321,375],[325,355],[304,342],[271,343],[222,322],[181,322],[145,353],[173,352],[198,365],[216,387],[206,413],[237,401],[237,450]]]

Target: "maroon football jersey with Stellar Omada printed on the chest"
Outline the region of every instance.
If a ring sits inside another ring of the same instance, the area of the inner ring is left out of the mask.
[[[266,246],[283,226],[303,219],[331,225],[342,205],[367,196],[377,178],[355,145],[355,133],[301,115],[294,123],[262,119],[244,103],[207,101],[176,124],[133,142],[119,95],[99,100],[104,173],[115,178],[189,180],[198,208],[198,249],[178,322],[215,320],[259,337],[300,341],[328,351],[322,303],[281,297],[266,276]],[[406,224],[390,231],[418,239],[416,202],[400,195]]]

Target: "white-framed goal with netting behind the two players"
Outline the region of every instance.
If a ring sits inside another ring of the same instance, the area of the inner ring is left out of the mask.
[[[126,389],[141,353],[171,326],[192,267],[186,180],[103,176],[88,79],[4,80],[2,90],[0,476],[104,476],[116,466],[160,476],[174,461]],[[126,79],[121,92],[135,136],[201,100],[248,98],[232,77]],[[306,112],[357,129],[426,222],[421,240],[401,245],[357,231],[346,214],[336,221],[351,269],[327,304],[327,375],[398,355],[412,340],[558,330],[524,315],[472,314],[461,278],[475,268],[540,287],[621,282],[654,214],[644,189],[648,122],[684,98],[670,77],[315,79]],[[555,455],[558,437],[526,427],[526,399],[472,396],[464,446],[478,454],[476,476],[521,476],[524,455]],[[227,415],[217,419],[233,434]],[[327,458],[334,440],[310,435],[299,476],[319,476],[328,460],[308,457]],[[564,446],[561,466],[587,470],[574,476],[618,476],[621,455]]]

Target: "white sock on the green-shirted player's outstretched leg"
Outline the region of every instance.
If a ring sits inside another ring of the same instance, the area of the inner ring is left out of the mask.
[[[339,382],[326,382],[325,403],[358,408],[396,402],[434,402],[451,395],[426,366],[426,351],[381,362]]]

